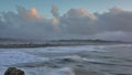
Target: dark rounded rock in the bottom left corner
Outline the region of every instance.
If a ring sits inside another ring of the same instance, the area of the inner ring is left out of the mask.
[[[25,75],[24,71],[18,69],[16,67],[9,67],[4,75]]]

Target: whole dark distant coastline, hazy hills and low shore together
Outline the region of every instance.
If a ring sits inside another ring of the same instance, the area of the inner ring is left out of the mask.
[[[32,42],[26,40],[0,39],[0,49],[24,49],[24,47],[47,47],[47,46],[74,46],[74,45],[110,45],[110,44],[132,44],[123,41],[105,40],[53,40]],[[12,42],[12,43],[10,43]]]

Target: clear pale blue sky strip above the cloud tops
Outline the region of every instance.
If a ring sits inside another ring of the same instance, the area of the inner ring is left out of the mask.
[[[121,7],[132,10],[132,0],[0,0],[0,11],[15,11],[16,6],[26,9],[35,7],[44,17],[51,17],[52,6],[59,8],[59,13],[66,13],[69,9],[84,8],[89,12],[105,12],[112,7]]]

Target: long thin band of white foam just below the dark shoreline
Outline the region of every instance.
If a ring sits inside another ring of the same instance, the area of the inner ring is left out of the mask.
[[[78,53],[81,51],[98,51],[103,52],[103,46],[81,45],[81,46],[55,46],[55,47],[37,47],[37,49],[21,49],[30,53]]]

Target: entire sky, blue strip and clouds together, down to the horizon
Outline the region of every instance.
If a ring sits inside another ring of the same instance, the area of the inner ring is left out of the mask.
[[[0,38],[132,41],[132,0],[0,0]]]

